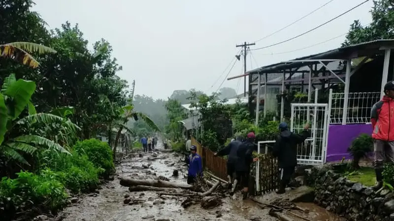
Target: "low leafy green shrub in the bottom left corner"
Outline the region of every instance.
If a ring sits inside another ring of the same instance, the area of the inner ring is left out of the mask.
[[[16,206],[31,208],[34,205],[44,211],[56,212],[66,206],[68,195],[64,185],[48,174],[41,176],[19,172],[16,179],[3,177],[0,196],[9,198]]]

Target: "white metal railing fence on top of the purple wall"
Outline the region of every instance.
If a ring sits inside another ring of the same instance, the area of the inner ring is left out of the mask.
[[[365,124],[370,122],[371,108],[380,100],[380,92],[332,93],[329,91],[330,124]],[[347,105],[346,105],[347,103]]]

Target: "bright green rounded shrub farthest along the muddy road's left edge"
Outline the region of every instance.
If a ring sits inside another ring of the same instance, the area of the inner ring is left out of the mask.
[[[103,168],[105,171],[101,174],[108,178],[115,172],[115,165],[112,158],[112,151],[108,143],[98,139],[85,139],[77,142],[73,150],[80,155],[89,157],[89,161],[96,167]]]

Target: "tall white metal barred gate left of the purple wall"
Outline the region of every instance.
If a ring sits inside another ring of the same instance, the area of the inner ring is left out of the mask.
[[[300,165],[322,165],[326,162],[328,137],[328,104],[291,104],[290,130],[301,133],[309,123],[311,137],[298,145]]]

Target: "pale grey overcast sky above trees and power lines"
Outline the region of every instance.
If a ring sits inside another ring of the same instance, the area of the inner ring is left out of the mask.
[[[216,91],[227,72],[211,88],[239,49],[236,44],[253,42],[304,16],[328,0],[35,0],[50,28],[67,20],[78,23],[90,43],[105,38],[123,66],[118,75],[135,93],[166,99],[175,89]],[[334,0],[292,27],[256,44],[263,47],[293,37],[328,21],[363,0]],[[311,33],[282,45],[253,51],[248,69],[339,47],[356,19],[371,21],[372,0]],[[253,47],[251,47],[253,49]],[[230,76],[242,74],[237,62]],[[243,81],[243,80],[242,80]],[[225,81],[223,86],[243,91],[243,82]],[[238,88],[237,88],[238,85]]]

